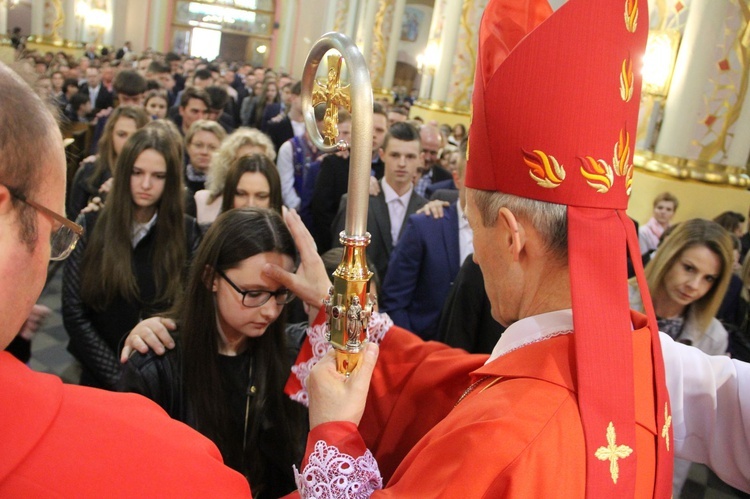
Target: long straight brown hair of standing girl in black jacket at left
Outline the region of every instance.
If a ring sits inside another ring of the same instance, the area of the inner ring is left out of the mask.
[[[182,287],[181,275],[187,260],[183,218],[182,156],[167,131],[147,126],[128,139],[117,158],[112,191],[91,232],[83,256],[81,296],[95,310],[104,310],[115,299],[136,301],[138,283],[133,274],[131,228],[135,207],[130,192],[133,165],[141,153],[153,149],[167,164],[164,192],[158,201],[154,227],[156,239],[152,267],[156,303],[172,302]]]

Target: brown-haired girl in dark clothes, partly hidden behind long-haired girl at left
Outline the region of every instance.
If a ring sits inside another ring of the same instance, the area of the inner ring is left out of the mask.
[[[75,220],[93,197],[104,197],[109,192],[112,185],[109,179],[125,142],[150,120],[139,107],[122,106],[112,111],[99,139],[99,153],[93,160],[84,161],[73,177],[66,209],[68,218]]]

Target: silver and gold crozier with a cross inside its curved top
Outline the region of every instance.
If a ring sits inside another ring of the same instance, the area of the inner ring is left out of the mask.
[[[318,67],[331,49],[340,56],[328,59],[325,91],[320,87],[315,90]],[[342,60],[346,62],[349,76],[346,101],[352,114],[351,144],[343,141],[336,143],[336,136],[324,139],[315,123],[316,101],[325,103],[326,114],[330,111],[333,117],[338,113],[339,102],[344,100],[340,87]],[[350,150],[346,224],[340,234],[344,253],[333,273],[333,286],[325,299],[326,336],[336,350],[338,371],[348,375],[359,363],[368,341],[367,325],[375,303],[369,293],[372,272],[367,268],[365,257],[370,243],[370,234],[366,229],[372,167],[372,85],[365,59],[349,37],[341,33],[327,33],[315,42],[302,74],[300,98],[307,133],[315,146],[327,153]]]

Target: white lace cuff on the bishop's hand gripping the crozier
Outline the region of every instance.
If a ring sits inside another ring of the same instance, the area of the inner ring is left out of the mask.
[[[354,458],[323,440],[315,443],[302,473],[294,467],[294,480],[303,498],[366,498],[383,488],[378,463],[369,450]]]

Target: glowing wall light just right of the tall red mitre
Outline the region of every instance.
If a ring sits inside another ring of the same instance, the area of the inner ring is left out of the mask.
[[[651,30],[643,56],[643,91],[666,98],[672,82],[680,33],[674,30]]]

